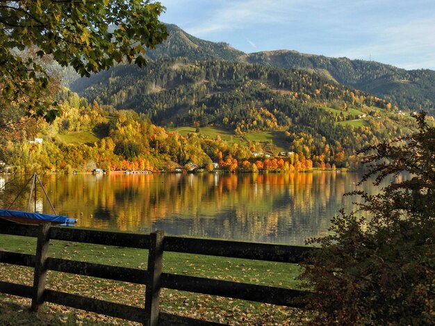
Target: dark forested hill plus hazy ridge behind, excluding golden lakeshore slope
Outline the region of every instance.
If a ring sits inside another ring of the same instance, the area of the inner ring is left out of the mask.
[[[168,31],[170,37],[147,52],[147,67],[118,65],[80,79],[72,90],[171,130],[213,127],[248,144],[273,142],[305,157],[334,156],[336,162],[343,162],[340,153],[350,157],[355,149],[415,128],[399,109],[433,108],[431,71],[296,51],[243,54],[174,25]],[[367,85],[370,92],[353,85]],[[389,95],[373,95],[381,89]],[[397,108],[393,98],[413,106]]]

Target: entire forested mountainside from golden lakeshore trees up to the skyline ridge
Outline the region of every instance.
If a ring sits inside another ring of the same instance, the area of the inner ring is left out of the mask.
[[[416,129],[389,99],[433,109],[429,70],[295,51],[244,54],[168,30],[167,41],[147,52],[147,67],[120,64],[78,79],[70,88],[87,100],[59,92],[62,116],[54,124],[2,133],[0,158],[22,172],[188,163],[209,170],[213,162],[230,171],[356,168],[356,149]],[[66,81],[76,76],[50,69]],[[380,90],[384,97],[373,95]],[[38,150],[28,142],[36,133],[44,138]]]

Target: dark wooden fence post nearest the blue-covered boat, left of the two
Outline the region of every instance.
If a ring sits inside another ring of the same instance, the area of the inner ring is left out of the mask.
[[[33,273],[33,295],[32,307],[33,311],[38,311],[44,303],[44,288],[47,278],[47,256],[50,241],[50,224],[44,223],[40,225],[38,234],[38,243],[36,244],[35,257],[35,272]]]

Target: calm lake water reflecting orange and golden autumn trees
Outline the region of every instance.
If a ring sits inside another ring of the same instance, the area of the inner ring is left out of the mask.
[[[378,191],[370,183],[357,188],[361,174],[354,172],[54,174],[41,179],[57,213],[78,218],[78,227],[139,233],[161,229],[171,235],[293,245],[327,234],[339,209],[354,209],[358,198],[344,193]],[[3,207],[25,181],[0,175]],[[23,197],[12,209],[26,207]],[[51,213],[40,191],[36,207]]]

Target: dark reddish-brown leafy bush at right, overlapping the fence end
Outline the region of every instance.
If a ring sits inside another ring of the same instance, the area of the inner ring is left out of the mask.
[[[416,119],[412,136],[361,151],[361,183],[393,180],[378,195],[352,193],[363,217],[341,211],[331,235],[308,241],[321,245],[302,274],[314,325],[435,325],[435,129]]]

